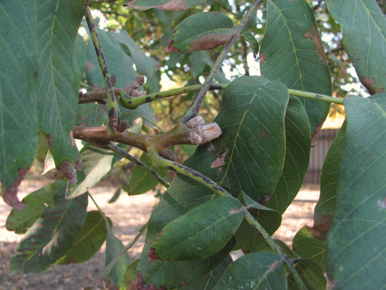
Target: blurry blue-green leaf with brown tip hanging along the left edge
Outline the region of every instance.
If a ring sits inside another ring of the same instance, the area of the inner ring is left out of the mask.
[[[0,3],[0,195],[22,207],[17,187],[37,147],[37,4]],[[17,93],[16,93],[17,92]]]

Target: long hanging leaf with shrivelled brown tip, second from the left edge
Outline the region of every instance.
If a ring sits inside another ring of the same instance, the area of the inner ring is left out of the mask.
[[[75,39],[86,11],[86,0],[39,1],[39,129],[46,135],[55,165],[76,183],[74,165],[81,169],[73,139],[80,72]]]

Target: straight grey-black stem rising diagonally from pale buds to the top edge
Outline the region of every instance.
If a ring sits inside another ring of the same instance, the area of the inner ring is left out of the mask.
[[[191,118],[194,118],[195,116],[198,115],[198,112],[200,111],[200,107],[202,105],[202,102],[208,92],[208,89],[213,83],[213,80],[215,79],[215,76],[220,69],[223,61],[227,57],[230,48],[233,46],[235,43],[236,39],[239,37],[239,34],[241,31],[244,29],[245,24],[247,24],[248,20],[251,18],[252,14],[256,11],[257,7],[259,7],[261,3],[261,0],[255,0],[251,7],[249,7],[249,10],[247,13],[245,13],[243,19],[241,20],[239,26],[236,29],[235,34],[230,38],[227,44],[225,44],[224,49],[221,51],[220,55],[218,55],[217,60],[215,61],[212,69],[210,70],[207,78],[205,79],[205,82],[202,85],[202,88],[200,92],[198,92],[197,96],[195,97],[194,101],[190,105],[189,109],[183,114],[181,120],[179,123],[185,124],[187,121],[189,121]]]

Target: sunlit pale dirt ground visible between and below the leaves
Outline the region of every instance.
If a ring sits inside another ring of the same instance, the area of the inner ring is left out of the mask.
[[[20,186],[19,198],[23,198],[40,186],[26,181]],[[154,193],[149,192],[139,196],[128,196],[122,193],[115,203],[107,201],[112,197],[116,188],[96,187],[90,189],[90,193],[96,200],[98,206],[113,221],[113,230],[124,244],[129,242],[146,223],[151,210],[157,203]],[[301,188],[295,201],[288,207],[283,215],[283,222],[274,234],[275,239],[281,239],[289,246],[296,232],[304,225],[312,226],[313,209],[318,200],[319,187],[306,185]],[[89,201],[88,210],[95,210],[92,201]],[[10,207],[0,199],[0,290],[80,290],[92,283],[104,268],[103,245],[100,251],[89,261],[82,264],[69,264],[66,266],[53,266],[49,270],[35,274],[9,275],[9,261],[15,254],[15,246],[22,235],[8,232],[5,228]],[[132,261],[139,258],[144,243],[144,235],[129,249]],[[241,252],[233,252],[232,257],[236,259]],[[103,289],[103,285],[94,289]]]

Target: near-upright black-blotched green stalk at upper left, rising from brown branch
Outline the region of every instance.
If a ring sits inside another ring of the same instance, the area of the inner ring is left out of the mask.
[[[102,44],[100,43],[97,27],[95,26],[94,19],[91,15],[90,8],[87,7],[85,13],[88,30],[91,34],[91,39],[93,40],[95,52],[97,53],[100,70],[103,76],[103,82],[105,84],[105,89],[107,92],[107,130],[110,135],[113,135],[117,132],[117,126],[120,122],[120,114],[117,100],[115,99],[113,85],[111,83],[110,74],[108,73],[107,63],[105,60],[105,56],[102,50]]]

